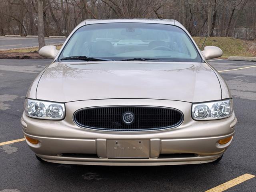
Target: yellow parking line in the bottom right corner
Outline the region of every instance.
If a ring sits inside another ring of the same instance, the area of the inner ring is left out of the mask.
[[[244,175],[241,175],[241,176],[239,176],[237,178],[234,178],[234,179],[232,179],[232,180],[230,180],[230,181],[228,181],[226,183],[223,183],[223,184],[221,184],[219,186],[216,186],[216,187],[214,187],[212,189],[209,189],[206,192],[222,192],[224,190],[227,190],[227,189],[229,189],[231,187],[234,187],[234,186],[236,186],[236,185],[238,185],[238,184],[240,184],[242,182],[245,182],[248,179],[254,178],[254,177],[255,177],[255,175],[244,174]]]

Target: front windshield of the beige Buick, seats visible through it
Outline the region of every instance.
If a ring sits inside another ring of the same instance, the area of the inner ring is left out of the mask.
[[[69,39],[59,59],[68,61],[72,60],[68,57],[81,56],[114,61],[201,62],[194,44],[182,29],[149,23],[82,26]]]

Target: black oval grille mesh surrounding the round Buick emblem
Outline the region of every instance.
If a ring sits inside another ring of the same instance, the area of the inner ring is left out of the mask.
[[[122,120],[126,112],[134,114],[131,124],[125,124]],[[84,108],[74,115],[74,122],[81,127],[112,131],[160,130],[178,126],[182,120],[183,116],[178,110],[148,106]]]

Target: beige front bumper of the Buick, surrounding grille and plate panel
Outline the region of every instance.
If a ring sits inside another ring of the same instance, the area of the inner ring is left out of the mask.
[[[73,122],[76,110],[91,106],[145,105],[179,109],[184,114],[177,128],[150,132],[104,132],[80,128]],[[81,107],[82,106],[82,107]],[[191,103],[170,100],[119,99],[66,103],[64,120],[40,120],[23,113],[21,124],[25,136],[39,140],[26,142],[37,156],[48,162],[90,165],[173,165],[212,162],[230,146],[218,140],[234,135],[236,117],[195,121]],[[107,140],[148,140],[149,158],[108,158]]]

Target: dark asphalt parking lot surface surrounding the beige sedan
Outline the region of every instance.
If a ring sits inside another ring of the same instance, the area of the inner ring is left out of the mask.
[[[51,60],[0,60],[0,143],[23,138],[26,92]],[[218,163],[179,166],[83,166],[41,163],[24,141],[0,146],[0,192],[203,192],[244,174],[256,175],[256,62],[213,60],[234,98],[233,142]],[[252,67],[251,67],[252,66]],[[249,67],[249,68],[248,68]],[[232,184],[233,183],[233,184]],[[227,192],[255,192],[256,177]],[[219,189],[219,190],[218,190]]]

